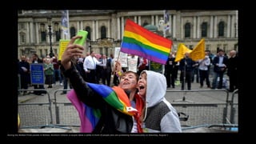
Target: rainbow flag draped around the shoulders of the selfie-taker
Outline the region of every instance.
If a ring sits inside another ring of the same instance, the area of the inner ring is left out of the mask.
[[[111,88],[109,86],[88,82],[87,85],[92,90],[94,90],[94,92],[101,95],[102,98],[110,104],[110,106],[113,106],[115,109],[121,111],[122,113],[128,115],[134,115],[138,113],[138,110],[134,109],[130,105],[129,98],[127,97],[125,91],[120,87],[114,86]],[[81,122],[80,132],[91,133],[94,130],[94,127],[97,125],[99,118],[101,117],[100,110],[86,106],[86,104],[78,99],[74,90],[70,90],[70,92],[67,94],[67,98],[70,99],[70,102],[72,102],[78,111]]]

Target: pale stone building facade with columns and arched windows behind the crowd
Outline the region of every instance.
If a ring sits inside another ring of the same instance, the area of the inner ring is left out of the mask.
[[[163,30],[161,22],[168,14]],[[70,39],[78,30],[89,32],[86,52],[110,55],[119,47],[127,18],[140,26],[155,27],[155,32],[192,49],[205,38],[206,50],[216,54],[238,50],[238,10],[68,10],[69,34],[62,30],[62,10],[18,10],[18,58],[58,54],[59,40]],[[47,18],[51,18],[48,24]],[[50,29],[49,29],[50,26]],[[50,30],[50,32],[49,32]],[[50,46],[52,48],[50,48]]]

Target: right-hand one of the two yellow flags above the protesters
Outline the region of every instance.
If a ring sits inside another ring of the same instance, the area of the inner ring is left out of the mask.
[[[198,45],[190,52],[190,58],[193,61],[198,61],[199,59],[205,58],[205,39],[202,38]]]

